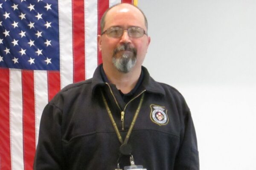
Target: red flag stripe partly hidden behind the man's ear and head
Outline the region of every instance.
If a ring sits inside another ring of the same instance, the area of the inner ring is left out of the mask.
[[[109,0],[98,0],[98,35],[100,35],[100,20],[104,12],[109,8]],[[98,65],[102,63],[102,54],[98,48]]]

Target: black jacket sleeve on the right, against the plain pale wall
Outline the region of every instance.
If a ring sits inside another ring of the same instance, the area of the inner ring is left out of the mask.
[[[199,170],[199,156],[195,127],[186,103],[180,116],[180,148],[175,159],[174,170]]]

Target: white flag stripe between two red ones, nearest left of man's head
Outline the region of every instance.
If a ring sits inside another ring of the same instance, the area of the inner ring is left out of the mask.
[[[98,34],[98,1],[85,0],[85,77],[93,77],[98,66],[97,34]]]

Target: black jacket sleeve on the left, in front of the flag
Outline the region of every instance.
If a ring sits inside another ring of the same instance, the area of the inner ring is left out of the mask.
[[[61,110],[48,104],[42,113],[34,170],[61,170]]]

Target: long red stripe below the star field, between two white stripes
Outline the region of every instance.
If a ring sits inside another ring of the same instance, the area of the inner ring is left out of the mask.
[[[24,170],[32,170],[35,155],[34,71],[22,71]]]

